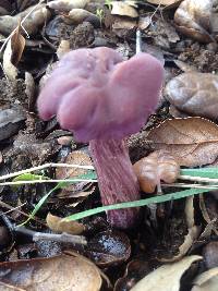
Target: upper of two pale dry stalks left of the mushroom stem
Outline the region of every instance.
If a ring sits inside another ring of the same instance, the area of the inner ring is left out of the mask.
[[[72,165],[72,163],[61,163],[61,162],[60,163],[48,162],[48,163],[40,165],[40,166],[37,166],[37,167],[33,167],[33,168],[29,168],[29,169],[21,170],[21,171],[14,172],[14,173],[9,173],[9,174],[1,175],[0,180],[11,179],[11,178],[14,178],[14,177],[23,174],[23,173],[31,173],[31,172],[38,171],[38,170],[44,170],[44,169],[47,169],[47,168],[77,168],[77,169],[85,169],[85,170],[94,170],[93,166],[82,166],[82,165],[75,165],[75,163]]]

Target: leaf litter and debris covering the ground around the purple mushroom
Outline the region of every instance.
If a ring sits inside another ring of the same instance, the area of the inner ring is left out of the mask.
[[[217,11],[217,0],[0,1],[0,290],[216,290]],[[88,145],[37,111],[64,56],[101,47],[165,66],[156,111],[126,136],[150,199],[126,230],[105,211],[69,221],[101,206],[99,177]],[[183,198],[154,203],[173,193]]]

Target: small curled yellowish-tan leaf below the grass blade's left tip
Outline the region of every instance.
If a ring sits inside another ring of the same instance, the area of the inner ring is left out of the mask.
[[[61,217],[48,214],[46,217],[46,222],[52,231],[56,232],[66,232],[71,234],[81,234],[85,227],[77,221],[65,221]]]

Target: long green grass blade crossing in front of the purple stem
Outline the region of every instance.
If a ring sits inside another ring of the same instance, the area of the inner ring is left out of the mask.
[[[94,209],[89,209],[89,210],[85,210],[85,211],[82,211],[78,214],[68,216],[68,217],[65,217],[65,220],[66,221],[78,220],[78,219],[82,219],[84,217],[93,216],[93,215],[100,214],[100,213],[108,211],[108,210],[141,207],[141,206],[146,206],[149,204],[156,204],[156,203],[164,203],[164,202],[173,201],[173,199],[180,199],[180,198],[184,198],[187,196],[201,194],[201,193],[213,191],[213,190],[217,190],[217,189],[214,189],[214,187],[190,189],[190,190],[184,190],[184,191],[170,193],[170,194],[166,194],[166,195],[161,195],[161,196],[154,196],[154,197],[146,198],[146,199],[135,201],[135,202],[125,202],[125,203],[119,203],[119,204],[114,204],[114,205],[97,207]]]

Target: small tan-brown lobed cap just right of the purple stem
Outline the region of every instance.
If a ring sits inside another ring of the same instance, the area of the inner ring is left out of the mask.
[[[133,165],[141,189],[153,193],[160,180],[173,183],[180,172],[180,166],[167,150],[157,150]]]

